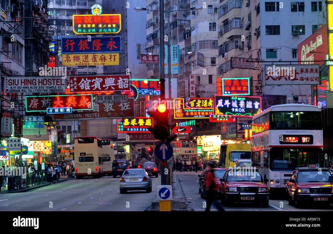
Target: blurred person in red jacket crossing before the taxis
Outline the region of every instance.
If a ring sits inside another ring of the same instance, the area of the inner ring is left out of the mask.
[[[207,189],[207,208],[205,211],[210,210],[210,205],[212,202],[214,202],[215,206],[218,208],[219,211],[224,211],[223,206],[220,202],[216,201],[215,196],[218,195],[217,193],[217,187],[215,186],[214,181],[214,173],[213,173],[213,165],[211,163],[207,163],[207,182],[205,189]]]

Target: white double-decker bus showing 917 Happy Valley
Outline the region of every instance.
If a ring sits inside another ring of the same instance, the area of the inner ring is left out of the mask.
[[[323,167],[323,130],[318,106],[282,104],[253,117],[252,165],[270,192],[284,190],[297,167]]]

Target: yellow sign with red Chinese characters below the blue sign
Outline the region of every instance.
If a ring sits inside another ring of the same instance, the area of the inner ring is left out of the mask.
[[[119,53],[91,53],[62,55],[64,66],[119,65]]]

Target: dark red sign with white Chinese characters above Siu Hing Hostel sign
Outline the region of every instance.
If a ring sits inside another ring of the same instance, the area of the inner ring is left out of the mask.
[[[130,91],[130,75],[70,76],[70,92]]]

